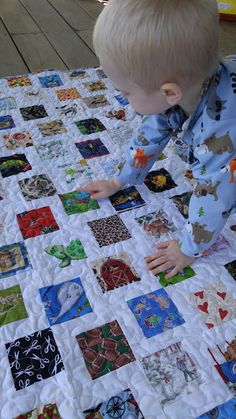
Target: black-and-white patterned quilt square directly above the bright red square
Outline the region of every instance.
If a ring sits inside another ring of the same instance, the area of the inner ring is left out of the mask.
[[[48,175],[35,175],[19,180],[21,192],[26,201],[44,198],[57,193],[55,186]]]

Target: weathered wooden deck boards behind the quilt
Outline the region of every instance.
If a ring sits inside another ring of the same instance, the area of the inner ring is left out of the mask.
[[[94,66],[97,0],[0,0],[0,76]],[[224,54],[236,54],[236,25],[221,25]]]

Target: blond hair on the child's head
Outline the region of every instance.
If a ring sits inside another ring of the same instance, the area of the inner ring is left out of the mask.
[[[104,62],[144,89],[210,76],[219,62],[215,0],[109,0],[93,42]]]

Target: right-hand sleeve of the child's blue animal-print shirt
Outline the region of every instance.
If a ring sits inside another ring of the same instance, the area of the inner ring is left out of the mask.
[[[181,251],[201,256],[217,240],[230,213],[236,209],[235,120],[211,125],[194,147],[198,180],[189,205]]]

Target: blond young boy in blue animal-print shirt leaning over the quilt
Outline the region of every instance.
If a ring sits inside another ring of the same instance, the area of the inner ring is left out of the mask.
[[[153,274],[171,270],[167,278],[212,246],[236,206],[236,59],[220,62],[218,41],[215,0],[110,0],[94,30],[105,73],[150,116],[120,175],[83,189],[99,199],[141,184],[171,138],[198,180],[180,243],[145,258]]]

